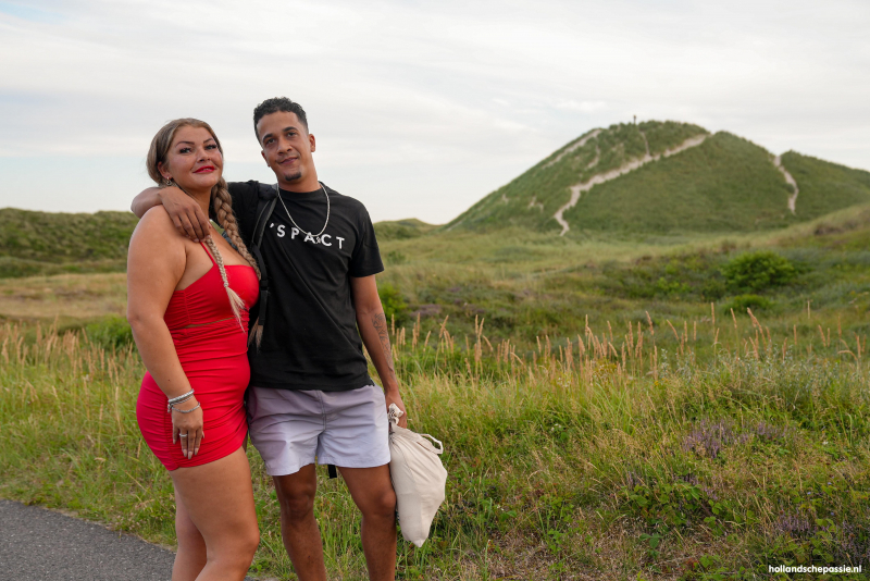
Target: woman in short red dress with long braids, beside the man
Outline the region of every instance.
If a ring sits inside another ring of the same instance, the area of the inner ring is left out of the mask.
[[[246,329],[259,270],[236,226],[221,144],[204,122],[167,123],[151,141],[148,173],[209,208],[233,240],[195,243],[162,206],[130,238],[127,319],[148,372],[136,416],[175,487],[173,581],[240,580],[260,533],[243,448],[250,378]]]

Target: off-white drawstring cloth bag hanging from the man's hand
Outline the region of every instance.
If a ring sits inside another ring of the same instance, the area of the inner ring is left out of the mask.
[[[396,491],[401,535],[421,547],[428,536],[432,519],[444,502],[447,470],[438,458],[444,445],[428,434],[399,428],[402,411],[396,404],[389,405],[388,413],[389,477]]]

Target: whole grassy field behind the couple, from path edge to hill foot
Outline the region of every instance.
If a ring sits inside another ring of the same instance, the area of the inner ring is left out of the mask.
[[[870,566],[870,209],[728,236],[390,227],[378,281],[411,428],[444,440],[450,472],[430,541],[400,543],[401,579]],[[741,277],[746,256],[763,268]],[[172,546],[170,479],[135,421],[124,275],[0,293],[0,496]],[[252,571],[293,578],[249,457]],[[320,485],[331,578],[363,579],[349,495]]]

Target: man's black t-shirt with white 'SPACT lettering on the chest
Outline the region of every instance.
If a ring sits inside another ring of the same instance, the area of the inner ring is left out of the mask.
[[[383,272],[372,220],[353,198],[326,187],[307,194],[281,190],[263,231],[260,252],[269,271],[263,338],[248,351],[251,385],[343,392],[371,385],[350,277]],[[259,200],[256,182],[231,183],[233,211],[250,246]],[[282,206],[284,201],[285,207]],[[289,211],[295,226],[287,215]],[[256,317],[251,311],[251,321]]]

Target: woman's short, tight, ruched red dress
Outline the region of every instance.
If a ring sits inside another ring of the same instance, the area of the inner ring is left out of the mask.
[[[150,373],[142,379],[136,403],[136,419],[145,442],[167,470],[228,456],[241,446],[248,433],[243,401],[250,366],[247,332],[243,329],[248,329],[248,309],[257,301],[259,283],[247,264],[224,267],[231,288],[245,301],[239,326],[217,264],[208,250],[206,254],[212,268],[188,287],[175,290],[163,314],[182,369],[202,405],[206,436],[199,454],[188,460],[182,455],[181,443],[172,443],[167,398]]]

